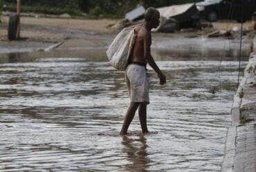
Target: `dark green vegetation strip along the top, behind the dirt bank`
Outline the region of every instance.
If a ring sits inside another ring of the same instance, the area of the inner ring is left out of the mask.
[[[90,18],[122,18],[125,13],[143,5],[161,7],[173,4],[191,3],[200,0],[21,0],[22,12],[37,12],[45,14],[68,13],[75,16],[85,12]],[[7,7],[4,10],[15,11],[16,0],[0,0],[0,6]]]

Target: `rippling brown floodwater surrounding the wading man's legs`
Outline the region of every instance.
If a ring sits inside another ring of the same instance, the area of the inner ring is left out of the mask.
[[[136,114],[121,137],[127,87],[105,58],[0,63],[0,171],[220,171],[238,62],[158,64],[167,84],[148,67],[152,133]]]

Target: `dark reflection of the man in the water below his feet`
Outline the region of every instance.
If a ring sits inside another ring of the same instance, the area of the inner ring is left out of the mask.
[[[122,151],[127,153],[127,160],[131,162],[125,166],[125,169],[127,171],[146,171],[149,166],[147,139],[143,135],[135,139],[122,136],[122,144],[124,145]]]

